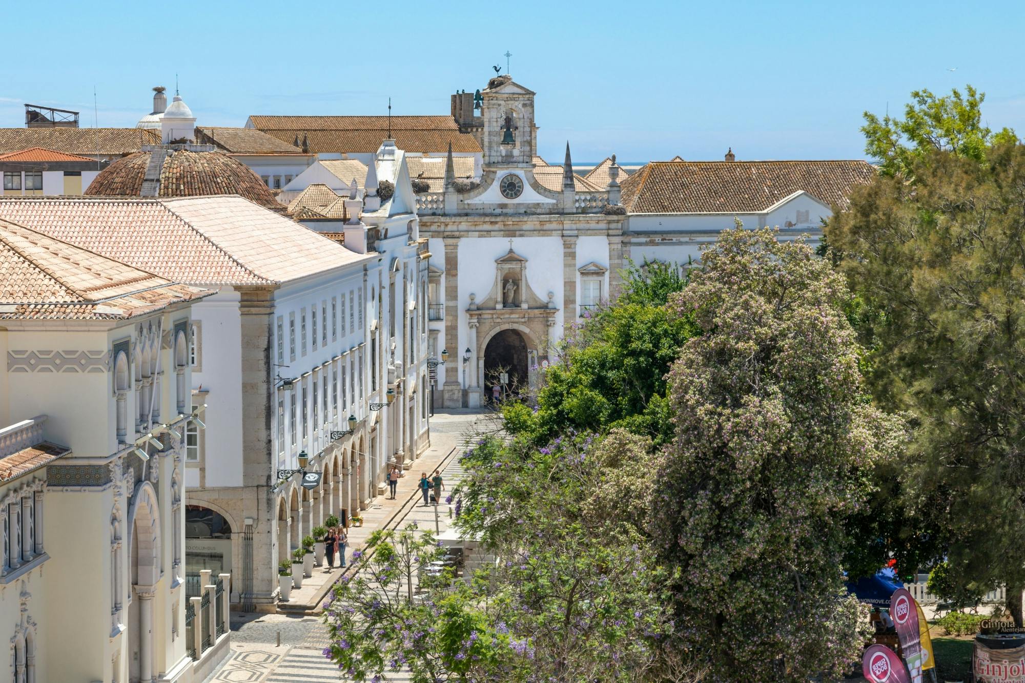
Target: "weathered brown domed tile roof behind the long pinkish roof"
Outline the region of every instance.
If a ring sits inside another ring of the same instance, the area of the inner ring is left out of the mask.
[[[136,152],[111,163],[83,193],[92,197],[138,197],[154,152]],[[285,207],[251,168],[222,152],[169,152],[160,169],[158,197],[239,195],[276,211]]]

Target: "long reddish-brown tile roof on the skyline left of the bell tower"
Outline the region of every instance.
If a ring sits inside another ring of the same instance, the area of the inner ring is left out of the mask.
[[[387,138],[387,128],[385,127],[369,129],[266,128],[263,129],[263,132],[288,144],[291,144],[296,135],[299,136],[300,140],[305,135],[310,145],[310,151],[314,154],[376,152],[380,148],[381,143]],[[395,138],[396,147],[406,152],[444,154],[448,150],[449,143],[452,144],[453,152],[481,151],[481,146],[477,144],[477,139],[469,133],[459,132],[458,128],[432,128],[423,130],[398,130],[393,128],[392,137]]]

